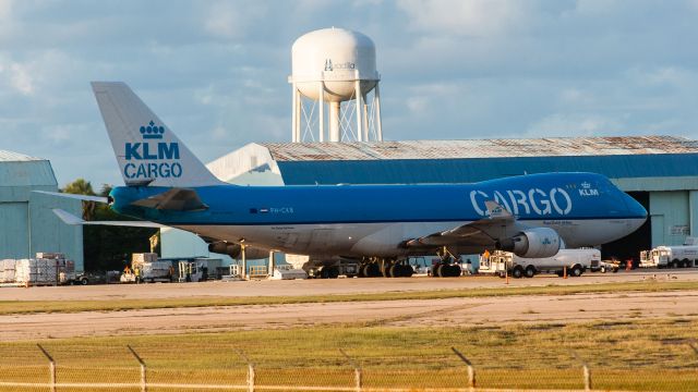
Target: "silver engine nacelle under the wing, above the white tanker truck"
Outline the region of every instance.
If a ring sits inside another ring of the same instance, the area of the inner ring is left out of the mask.
[[[510,238],[497,241],[495,247],[500,250],[512,252],[516,256],[526,258],[552,257],[559,252],[563,240],[556,231],[549,228],[526,230]]]

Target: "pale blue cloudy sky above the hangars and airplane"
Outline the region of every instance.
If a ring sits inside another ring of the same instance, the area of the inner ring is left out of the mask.
[[[386,139],[698,138],[698,0],[0,0],[0,149],[121,184],[89,81],[124,81],[203,161],[290,140],[290,47],[377,48]]]

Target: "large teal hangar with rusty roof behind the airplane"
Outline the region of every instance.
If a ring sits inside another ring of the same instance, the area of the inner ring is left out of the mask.
[[[604,245],[603,257],[638,258],[698,234],[698,142],[683,137],[253,143],[207,167],[240,185],[470,183],[588,171],[610,177],[650,215],[636,233]],[[203,241],[174,230],[163,233],[163,253],[208,255]]]

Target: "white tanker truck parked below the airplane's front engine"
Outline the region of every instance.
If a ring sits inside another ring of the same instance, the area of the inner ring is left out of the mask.
[[[502,278],[508,273],[513,278],[533,278],[538,273],[556,273],[563,277],[565,269],[569,277],[580,277],[592,266],[601,264],[601,252],[597,249],[561,249],[546,258],[524,258],[509,252],[496,250],[480,262],[481,273],[494,273]]]

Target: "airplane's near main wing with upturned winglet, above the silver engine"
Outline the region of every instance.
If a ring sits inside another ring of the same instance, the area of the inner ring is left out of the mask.
[[[497,238],[512,236],[520,231],[514,216],[495,201],[485,201],[488,218],[443,232],[433,233],[407,242],[408,247],[446,245],[491,245]]]

